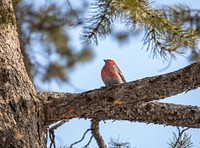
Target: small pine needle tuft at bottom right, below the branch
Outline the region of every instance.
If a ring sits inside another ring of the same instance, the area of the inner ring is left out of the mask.
[[[173,139],[170,139],[168,145],[170,148],[191,148],[193,147],[193,143],[191,141],[191,135],[187,134],[186,131],[189,128],[180,129],[177,127],[178,134],[173,132]]]

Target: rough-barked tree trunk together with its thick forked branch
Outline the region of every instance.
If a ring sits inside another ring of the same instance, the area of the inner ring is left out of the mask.
[[[200,127],[200,107],[155,102],[199,87],[200,63],[79,94],[37,92],[24,67],[11,0],[0,1],[0,16],[0,147],[46,147],[46,128],[62,119]]]

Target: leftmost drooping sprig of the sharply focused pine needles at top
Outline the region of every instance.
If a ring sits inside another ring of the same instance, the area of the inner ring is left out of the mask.
[[[96,0],[93,6],[95,11],[92,17],[87,20],[91,24],[84,27],[83,39],[89,43],[98,44],[98,37],[105,38],[106,35],[111,33],[114,20],[112,17],[115,11],[112,9],[111,0]]]

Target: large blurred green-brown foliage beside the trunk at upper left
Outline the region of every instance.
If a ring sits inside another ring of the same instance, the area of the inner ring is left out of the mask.
[[[30,78],[41,81],[68,80],[68,72],[78,63],[93,57],[91,47],[76,49],[70,45],[70,29],[79,27],[81,9],[72,9],[70,3],[60,6],[49,3],[35,8],[33,3],[16,1],[16,14],[24,62]],[[39,58],[38,58],[39,57]],[[57,57],[57,60],[56,58]],[[58,60],[59,59],[59,60]]]

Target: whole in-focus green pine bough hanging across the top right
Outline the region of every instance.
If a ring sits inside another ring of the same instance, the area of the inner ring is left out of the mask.
[[[146,31],[143,42],[147,44],[147,49],[153,50],[154,55],[165,57],[173,51],[178,52],[177,49],[181,47],[193,48],[199,37],[196,30],[173,23],[163,11],[153,8],[147,0],[101,0],[93,5],[96,13],[88,19],[90,25],[85,27],[83,35],[88,42],[97,44],[97,37],[105,38],[111,32],[116,18],[124,20],[122,22],[131,28],[138,23],[143,26]]]

